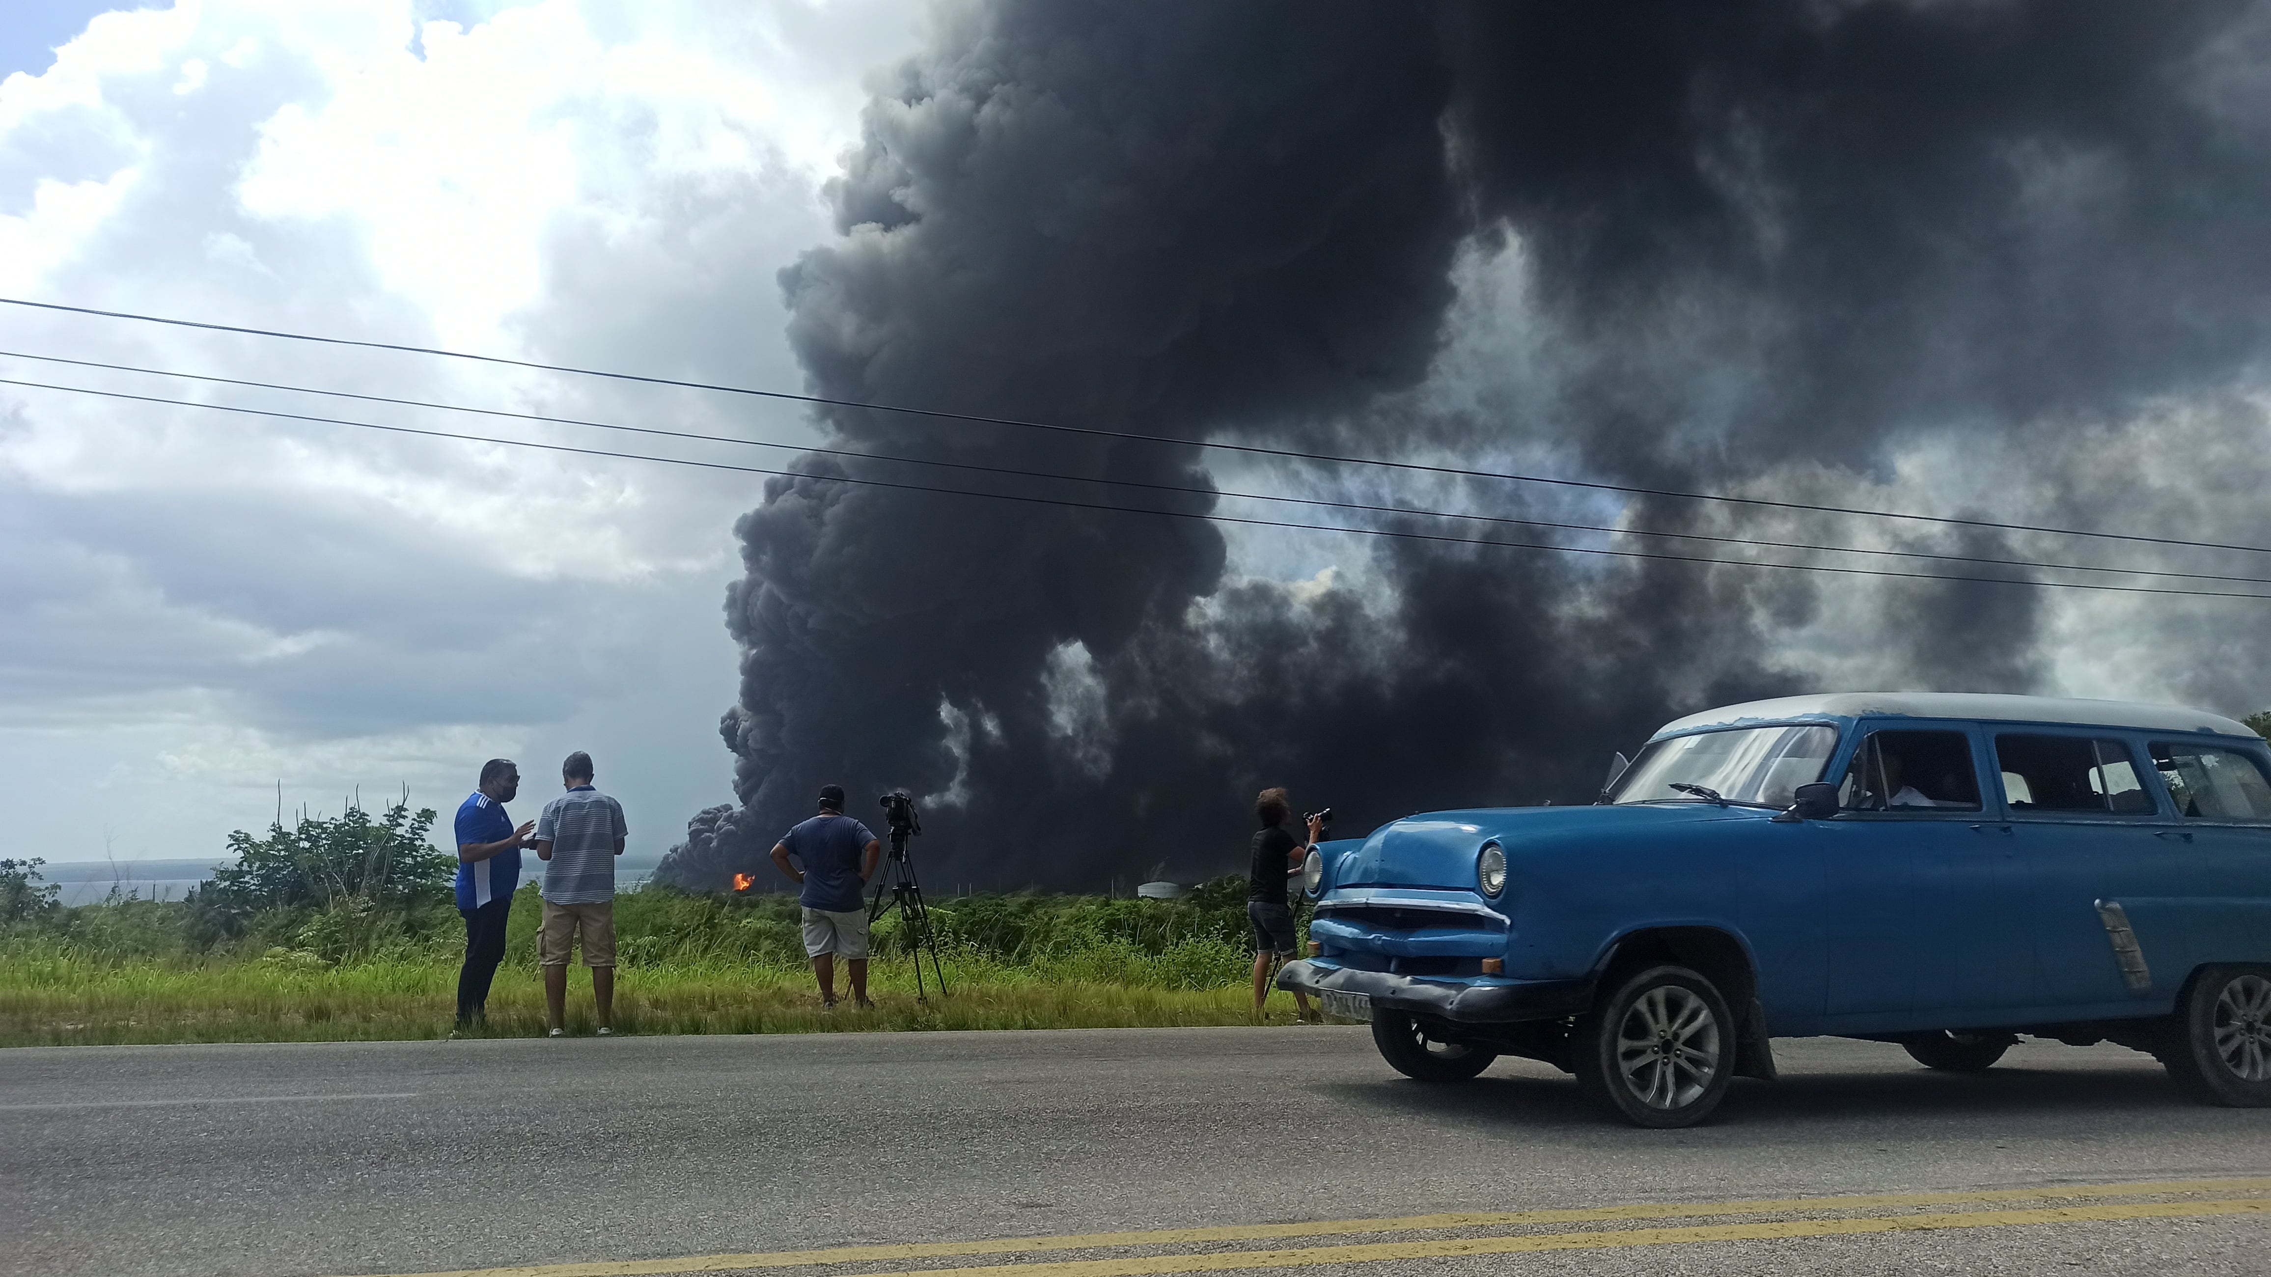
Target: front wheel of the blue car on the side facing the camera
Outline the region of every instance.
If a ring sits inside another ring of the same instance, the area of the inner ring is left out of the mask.
[[[1585,1095],[1635,1127],[1692,1127],[1735,1077],[1737,1025],[1726,998],[1685,966],[1621,979],[1569,1034]]]

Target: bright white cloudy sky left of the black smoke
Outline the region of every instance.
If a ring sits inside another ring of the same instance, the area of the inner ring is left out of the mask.
[[[772,273],[827,234],[818,186],[911,2],[418,11],[184,0],[0,82],[0,293],[795,384]],[[0,350],[806,436],[699,395],[18,309]],[[625,443],[23,359],[0,377]],[[718,607],[754,500],[699,470],[0,386],[0,766],[41,795],[16,836],[77,859],[100,809],[120,852],[202,854],[279,779],[293,804],[402,782],[445,804],[486,757],[540,777],[588,748],[661,850],[729,795]]]

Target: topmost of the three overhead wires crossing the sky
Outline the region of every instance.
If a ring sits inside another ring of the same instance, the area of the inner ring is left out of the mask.
[[[243,334],[243,336],[273,336],[273,339],[279,339],[279,341],[313,341],[313,343],[320,343],[320,345],[352,345],[352,348],[361,348],[361,350],[393,350],[393,352],[400,352],[400,354],[434,354],[434,357],[441,357],[441,359],[468,359],[468,361],[475,361],[475,364],[495,364],[495,366],[504,366],[504,368],[529,368],[529,370],[536,370],[536,373],[570,373],[570,375],[577,375],[577,377],[604,377],[604,379],[611,379],[611,382],[636,382],[636,384],[645,384],[645,386],[677,386],[677,389],[686,389],[686,391],[713,391],[713,393],[722,393],[722,395],[754,395],[754,398],[763,398],[763,400],[783,400],[783,402],[818,404],[818,407],[888,411],[888,414],[904,414],[904,416],[927,416],[927,418],[936,418],[936,420],[967,420],[967,423],[977,423],[977,425],[1013,425],[1013,427],[1020,427],[1020,429],[1051,429],[1051,432],[1061,432],[1061,434],[1086,434],[1086,436],[1097,436],[1097,439],[1129,439],[1129,441],[1138,441],[1138,443],[1172,443],[1172,445],[1179,445],[1179,448],[1213,448],[1213,450],[1222,450],[1222,452],[1245,452],[1245,454],[1254,454],[1254,457],[1281,457],[1281,459],[1290,459],[1290,461],[1326,461],[1326,464],[1335,464],[1335,466],[1381,466],[1381,468],[1390,468],[1390,470],[1417,470],[1417,473],[1428,473],[1428,475],[1451,475],[1451,477],[1465,477],[1465,479],[1506,479],[1506,482],[1519,482],[1519,484],[1553,484],[1553,486],[1565,486],[1565,489],[1592,489],[1592,491],[1603,491],[1603,493],[1626,493],[1626,495],[1646,495],[1646,498],[1676,498],[1676,500],[1699,500],[1699,502],[1726,502],[1726,504],[1746,504],[1746,507],[1760,507],[1760,509],[1796,509],[1796,511],[1812,511],[1812,514],[1846,514],[1846,516],[1860,516],[1860,518],[1899,518],[1899,520],[1912,520],[1912,523],[1937,523],[1937,525],[1944,525],[1944,527],[1987,527],[1987,529],[1996,529],[1996,532],[2039,532],[2039,534],[2048,534],[2048,536],[2089,536],[2089,539],[2098,539],[2098,541],[2135,541],[2135,543],[2144,543],[2144,545],[2180,545],[2180,548],[2187,548],[2187,550],[2244,550],[2248,554],[2271,554],[2271,545],[2232,545],[2232,543],[2223,543],[2223,541],[2185,541],[2180,536],[2146,536],[2146,534],[2137,534],[2137,532],[2094,532],[2094,529],[2087,529],[2087,527],[2046,527],[2046,525],[2035,525],[2035,523],[1996,523],[1996,520],[1989,520],[1989,518],[1955,518],[1955,516],[1939,516],[1939,514],[1905,514],[1905,511],[1858,509],[1858,507],[1842,507],[1842,504],[1783,502],[1783,500],[1769,500],[1769,498],[1731,498],[1731,495],[1724,495],[1724,493],[1687,493],[1687,491],[1678,491],[1678,489],[1642,489],[1642,486],[1633,486],[1633,484],[1608,484],[1608,482],[1601,482],[1601,479],[1562,479],[1562,477],[1553,477],[1553,475],[1515,475],[1515,473],[1506,473],[1506,470],[1472,470],[1472,468],[1465,468],[1465,466],[1431,466],[1431,464],[1424,464],[1424,461],[1390,461],[1385,457],[1342,457],[1342,454],[1335,454],[1335,452],[1301,452],[1297,448],[1267,448],[1267,445],[1260,445],[1260,443],[1226,443],[1226,441],[1213,441],[1213,439],[1179,439],[1179,436],[1172,436],[1172,434],[1142,434],[1142,432],[1133,432],[1133,429],[1104,429],[1104,427],[1095,427],[1095,425],[1063,425],[1063,423],[1024,420],[1024,418],[1011,418],[1011,416],[986,416],[986,414],[967,414],[967,411],[924,409],[924,407],[913,407],[913,404],[883,404],[883,402],[863,402],[863,400],[838,400],[838,398],[829,398],[829,395],[799,395],[799,393],[793,393],[793,391],[763,391],[763,389],[756,389],[756,386],[727,386],[727,384],[718,384],[718,382],[684,382],[684,379],[677,379],[677,377],[650,377],[650,375],[643,375],[643,373],[613,373],[613,370],[606,370],[606,368],[577,368],[572,364],[540,364],[540,361],[534,361],[534,359],[509,359],[504,354],[475,354],[470,350],[445,350],[445,348],[438,348],[438,345],[404,345],[404,343],[395,343],[395,341],[361,341],[361,339],[352,339],[352,336],[320,336],[320,334],[307,334],[307,332],[284,332],[284,329],[273,329],[273,327],[241,327],[241,325],[227,325],[227,323],[207,323],[207,320],[184,320],[184,318],[168,318],[168,316],[148,316],[148,314],[136,314],[136,311],[102,311],[102,309],[93,309],[93,307],[66,307],[61,302],[32,302],[32,300],[25,300],[25,298],[0,298],[0,304],[32,307],[32,309],[41,309],[41,311],[79,314],[79,316],[98,316],[98,318],[120,318],[120,320],[136,320],[136,323],[161,323],[161,325],[193,327],[193,329],[204,329],[204,332],[234,332],[234,334]]]

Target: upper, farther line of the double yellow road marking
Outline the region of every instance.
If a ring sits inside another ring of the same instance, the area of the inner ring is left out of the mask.
[[[1199,1229],[1013,1236],[1013,1238],[988,1238],[988,1241],[836,1245],[827,1250],[770,1250],[756,1254],[686,1254],[677,1259],[622,1259],[622,1261],[597,1261],[597,1263],[531,1263],[518,1268],[459,1268],[450,1272],[418,1272],[418,1275],[404,1272],[393,1277],[647,1277],[656,1272],[727,1272],[738,1268],[806,1268],[822,1263],[904,1263],[908,1259],[952,1259],[972,1254],[1117,1250],[1133,1245],[1204,1245],[1220,1241],[1347,1236],[1367,1232],[1442,1232],[1442,1229],[1617,1222],[1617,1220],[1683,1220],[1683,1218],[1712,1218],[1712,1216],[1767,1216],[1787,1211],[1867,1211],[1887,1207],[1985,1207],[1996,1202],[2167,1197],[2178,1193],[2271,1193],[2271,1177],[2164,1179],[2164,1182],[2142,1182],[2142,1184],[2062,1184],[2053,1188],[1978,1188],[1969,1193],[1767,1197],[1751,1202],[1665,1202],[1665,1204],[1631,1204],[1631,1207],[1576,1207],[1556,1211],[1460,1211],[1460,1213],[1397,1216],[1397,1218],[1372,1218],[1372,1220],[1315,1220],[1297,1225],[1226,1225],[1226,1227],[1199,1227]],[[2132,1207],[2107,1207],[2107,1209],[2132,1209]],[[1978,1216],[1980,1216],[1978,1211],[1971,1211],[1964,1218],[1978,1218]],[[1926,1216],[1903,1216],[1903,1218],[1926,1218]],[[1785,1225],[1744,1225],[1744,1227],[1785,1227]],[[1681,1229],[1642,1229],[1642,1232],[1681,1232]],[[1556,1234],[1556,1236],[1585,1236],[1585,1234]],[[1640,1232],[1617,1232],[1612,1236],[1640,1236]],[[1492,1238],[1492,1241],[1528,1241],[1528,1238]],[[1428,1245],[1428,1243],[1401,1243],[1401,1245]],[[1440,1243],[1440,1245],[1465,1245],[1465,1243]],[[1338,1247],[1338,1250],[1363,1250],[1363,1247]],[[1260,1254],[1260,1252],[1242,1252],[1242,1254]],[[1204,1257],[1204,1259],[1222,1259],[1222,1257]],[[1040,1268],[1049,1266],[997,1266],[997,1268],[1020,1268],[1024,1272],[1038,1275]],[[956,1268],[954,1272],[986,1272],[986,1270],[988,1268]],[[1160,1268],[1158,1272],[1170,1272],[1170,1270]]]

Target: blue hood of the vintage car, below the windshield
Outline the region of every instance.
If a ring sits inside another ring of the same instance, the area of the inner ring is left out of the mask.
[[[1488,807],[1474,811],[1428,811],[1406,816],[1372,832],[1331,866],[1331,886],[1435,886],[1474,888],[1474,857],[1497,841],[1508,857],[1597,845],[1603,838],[1646,836],[1642,829],[1703,825],[1717,820],[1765,820],[1771,811],[1719,807],[1715,802],[1662,802],[1646,807]]]

